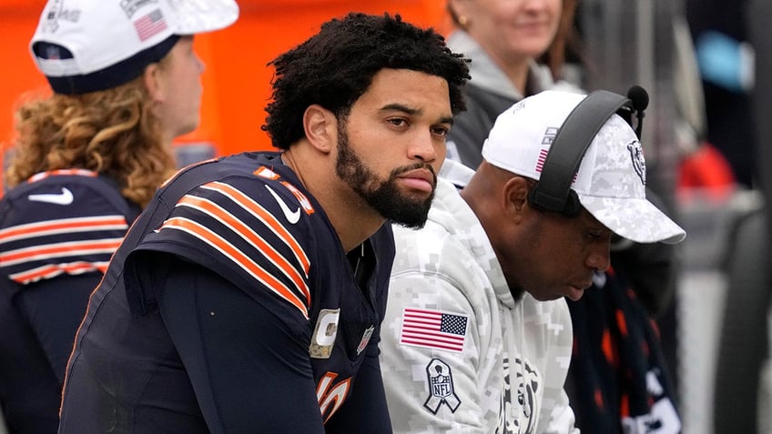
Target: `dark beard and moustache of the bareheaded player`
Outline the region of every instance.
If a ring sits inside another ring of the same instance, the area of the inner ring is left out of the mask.
[[[429,197],[410,197],[401,192],[397,184],[398,177],[416,169],[428,169],[434,177],[432,187],[437,186],[434,168],[428,163],[416,163],[409,167],[399,167],[391,171],[386,180],[381,180],[365,166],[360,156],[349,146],[349,134],[345,126],[338,127],[338,158],[335,171],[338,177],[349,186],[381,217],[403,227],[420,229],[426,224],[429,208],[432,207],[434,190]]]

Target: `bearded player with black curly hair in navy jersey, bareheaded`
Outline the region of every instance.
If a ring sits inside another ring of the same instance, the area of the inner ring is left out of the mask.
[[[59,432],[391,433],[378,354],[391,225],[421,227],[468,67],[399,15],[278,56],[279,152],[188,167],[93,293]]]

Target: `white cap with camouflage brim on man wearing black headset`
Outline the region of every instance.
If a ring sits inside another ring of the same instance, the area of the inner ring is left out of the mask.
[[[549,90],[515,103],[496,119],[483,158],[539,180],[554,136],[584,97]],[[645,183],[641,143],[625,119],[613,115],[584,153],[571,188],[582,206],[620,237],[639,243],[682,241],[686,232],[646,199]]]

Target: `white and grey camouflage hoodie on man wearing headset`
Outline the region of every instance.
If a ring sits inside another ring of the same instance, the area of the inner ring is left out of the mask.
[[[394,432],[578,433],[564,393],[573,337],[564,299],[513,298],[482,225],[447,179],[426,226],[394,227],[394,237],[381,331]]]

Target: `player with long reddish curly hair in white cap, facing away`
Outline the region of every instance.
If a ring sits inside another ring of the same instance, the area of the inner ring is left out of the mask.
[[[50,0],[30,52],[53,95],[26,99],[0,202],[0,403],[11,432],[53,433],[91,291],[198,126],[194,35],[233,0]]]

